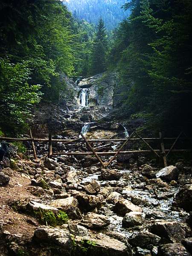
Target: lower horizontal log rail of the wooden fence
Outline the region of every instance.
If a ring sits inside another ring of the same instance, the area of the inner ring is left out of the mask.
[[[161,153],[160,149],[154,149],[157,153]],[[168,152],[169,150],[165,150]],[[191,152],[190,149],[173,149],[173,153],[175,152]],[[113,156],[117,152],[97,152],[96,154],[101,155],[101,156]],[[131,150],[131,151],[120,151],[119,154],[149,154],[152,153],[151,150]],[[86,156],[86,155],[93,155],[93,152],[58,152],[58,153],[53,153],[53,155],[67,155],[67,156]]]

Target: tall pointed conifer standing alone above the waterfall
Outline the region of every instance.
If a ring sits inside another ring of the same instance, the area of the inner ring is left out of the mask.
[[[93,58],[92,58],[92,73],[102,73],[106,67],[106,51],[107,51],[107,35],[105,30],[105,24],[102,18],[100,18],[96,38],[93,44]]]

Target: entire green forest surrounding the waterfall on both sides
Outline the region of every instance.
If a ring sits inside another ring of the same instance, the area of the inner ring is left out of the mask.
[[[1,131],[25,129],[32,105],[57,102],[62,74],[111,71],[119,75],[123,115],[154,130],[190,129],[191,1],[132,0],[122,8],[131,15],[109,31],[105,17],[89,23],[61,1],[1,1]]]

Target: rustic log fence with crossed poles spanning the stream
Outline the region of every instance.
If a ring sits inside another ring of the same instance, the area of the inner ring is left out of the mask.
[[[32,131],[29,129],[29,138],[7,138],[7,137],[0,137],[1,140],[6,140],[9,142],[12,141],[30,141],[32,144],[32,150],[34,154],[35,160],[38,160],[37,154],[36,154],[36,149],[35,149],[35,142],[48,142],[49,147],[48,147],[48,154],[46,154],[44,157],[42,157],[39,160],[43,160],[46,157],[52,157],[56,155],[95,155],[95,157],[98,159],[98,161],[101,163],[101,165],[104,168],[107,168],[108,166],[111,165],[113,160],[116,159],[117,155],[119,154],[145,154],[145,153],[154,153],[156,157],[162,158],[164,166],[167,166],[167,157],[169,156],[170,152],[187,152],[190,151],[190,149],[174,149],[176,143],[178,140],[192,140],[191,138],[188,138],[186,135],[185,137],[181,137],[181,135],[185,135],[183,132],[180,132],[180,134],[176,138],[163,138],[163,134],[160,132],[158,138],[143,138],[141,137],[137,131],[134,131],[127,139],[96,139],[96,140],[87,140],[86,137],[81,133],[81,138],[75,139],[75,140],[58,140],[58,139],[52,139],[52,133],[49,133],[49,139],[36,139],[33,138],[32,136]],[[148,150],[130,150],[130,151],[123,151],[123,148],[128,142],[137,142],[137,141],[142,141],[149,149]],[[159,142],[160,143],[160,149],[154,149],[151,147],[149,144],[150,142]],[[170,149],[165,149],[164,142],[165,141],[173,141],[172,146]],[[86,143],[88,152],[64,152],[64,151],[58,151],[58,152],[52,152],[52,143],[53,142],[62,142],[64,145],[67,144],[72,144],[72,143]],[[90,143],[96,143],[96,142],[122,142],[122,145],[119,147],[117,151],[109,151],[109,152],[96,152],[96,150],[92,147]],[[100,156],[112,156],[111,160],[108,163],[104,163],[101,159]]]

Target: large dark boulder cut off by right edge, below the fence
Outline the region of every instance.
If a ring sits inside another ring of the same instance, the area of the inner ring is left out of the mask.
[[[174,198],[173,206],[192,211],[192,184],[183,186]]]

